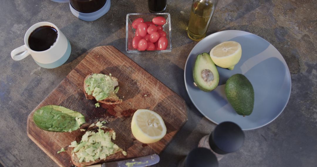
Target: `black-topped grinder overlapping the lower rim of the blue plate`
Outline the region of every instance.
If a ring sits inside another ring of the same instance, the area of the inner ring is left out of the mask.
[[[233,122],[222,122],[209,135],[200,139],[198,147],[210,149],[217,156],[218,161],[224,154],[238,151],[244,143],[244,133]]]

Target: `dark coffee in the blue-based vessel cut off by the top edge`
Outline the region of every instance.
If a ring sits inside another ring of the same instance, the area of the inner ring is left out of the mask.
[[[74,9],[81,13],[92,13],[101,9],[107,0],[69,0]]]

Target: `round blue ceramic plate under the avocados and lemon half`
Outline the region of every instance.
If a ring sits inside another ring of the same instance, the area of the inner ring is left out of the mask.
[[[192,69],[196,57],[217,44],[233,40],[242,47],[242,56],[234,70],[217,66],[219,85],[211,92],[194,86]],[[224,86],[237,73],[245,75],[254,88],[254,109],[251,115],[241,116],[228,102]],[[244,31],[220,31],[205,37],[191,50],[186,61],[185,86],[196,108],[210,121],[219,124],[232,121],[243,130],[263,127],[277,118],[285,108],[291,93],[291,77],[281,53],[263,38]]]

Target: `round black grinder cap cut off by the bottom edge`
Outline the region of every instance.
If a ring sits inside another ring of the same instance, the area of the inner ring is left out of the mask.
[[[218,167],[217,157],[209,149],[198,147],[186,157],[185,167]]]

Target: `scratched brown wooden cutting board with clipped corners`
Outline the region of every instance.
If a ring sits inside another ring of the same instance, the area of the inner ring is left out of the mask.
[[[140,56],[140,55],[138,55]],[[83,93],[84,78],[90,73],[103,73],[119,79],[120,90],[117,95],[123,99],[121,104],[100,105],[95,108],[95,100],[88,100]],[[27,134],[59,166],[71,166],[70,149],[57,154],[62,147],[75,139],[81,139],[85,132],[71,133],[44,131],[33,122],[33,113],[49,104],[60,105],[85,116],[86,124],[82,128],[108,120],[105,125],[116,132],[114,143],[127,152],[106,161],[136,158],[153,153],[160,153],[174,135],[187,121],[184,100],[151,74],[129,59],[113,46],[99,46],[72,70],[64,80],[29,114]],[[142,144],[131,133],[132,115],[137,109],[150,109],[160,114],[167,132],[163,139],[153,144]]]

